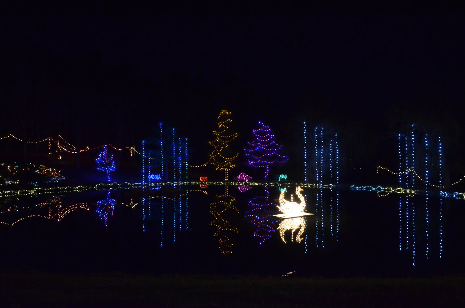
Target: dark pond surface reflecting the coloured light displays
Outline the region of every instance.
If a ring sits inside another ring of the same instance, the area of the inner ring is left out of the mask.
[[[221,217],[238,232],[223,230],[232,243],[232,253],[223,255],[220,236],[214,236],[217,228],[210,223],[214,219],[211,203],[224,194],[224,187],[202,190],[183,186],[180,190],[105,190],[6,200],[0,208],[1,266],[76,272],[283,275],[295,271],[292,275],[381,277],[453,274],[465,269],[464,200],[445,198],[441,207],[439,198],[429,197],[426,223],[425,197],[411,197],[415,213],[411,208],[407,223],[405,212],[399,215],[399,194],[378,197],[365,191],[306,189],[306,211],[317,215],[306,216],[304,240],[291,242],[291,232],[286,231],[284,243],[275,231],[260,244],[261,238],[254,233],[261,231],[248,223],[246,211],[251,210],[250,200],[265,195],[264,188],[241,193],[230,187],[235,198],[231,204],[239,213],[226,209]],[[270,199],[261,200],[277,204],[278,197],[279,190],[270,188]],[[290,199],[290,193],[286,198]],[[274,204],[266,210],[279,213]],[[20,220],[23,217],[27,218]],[[280,222],[271,217],[267,224],[276,229]]]

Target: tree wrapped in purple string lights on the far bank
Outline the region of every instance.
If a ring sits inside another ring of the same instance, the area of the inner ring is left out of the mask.
[[[279,154],[282,145],[274,142],[270,127],[260,121],[259,126],[258,130],[253,130],[255,139],[247,143],[248,149],[244,151],[249,165],[255,168],[265,168],[265,178],[267,178],[271,165],[284,164],[289,157]]]

